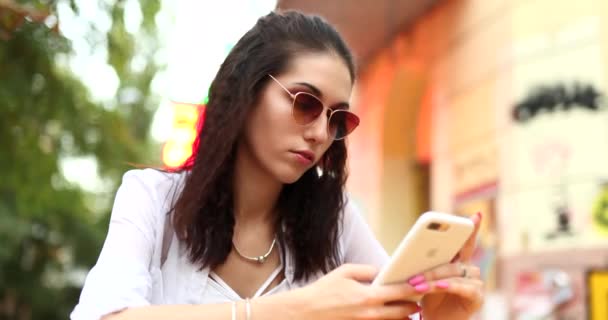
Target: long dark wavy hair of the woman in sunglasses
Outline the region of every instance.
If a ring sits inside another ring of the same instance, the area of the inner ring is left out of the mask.
[[[211,84],[196,150],[177,170],[186,178],[173,206],[172,222],[192,263],[217,267],[232,249],[237,143],[268,74],[280,75],[294,57],[317,52],[340,57],[354,82],[353,58],[338,32],[322,18],[296,11],[260,18],[221,65]],[[321,172],[311,168],[279,195],[275,230],[278,241],[293,252],[296,280],[339,265],[345,163],[344,141],[335,141],[317,164]]]

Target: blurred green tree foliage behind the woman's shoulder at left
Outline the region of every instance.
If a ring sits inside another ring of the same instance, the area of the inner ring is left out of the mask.
[[[67,4],[78,16],[82,1],[0,0],[0,319],[68,317],[80,293],[75,275],[95,262],[122,173],[152,163],[159,1],[137,1],[134,33],[124,1],[97,3],[111,27],[91,27],[87,40],[107,52],[120,83],[115,98],[96,101],[58,62],[69,61],[73,46],[56,9]],[[62,159],[78,157],[95,160],[103,192],[64,177]]]

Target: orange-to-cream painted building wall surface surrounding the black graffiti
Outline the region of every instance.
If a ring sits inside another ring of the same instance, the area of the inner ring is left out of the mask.
[[[574,154],[568,174],[608,177],[608,148],[598,149],[602,141],[589,138],[608,136],[604,118],[566,115],[521,126],[511,112],[539,84],[576,79],[608,88],[606,9],[601,0],[576,6],[566,0],[445,1],[379,51],[358,82],[355,105],[363,123],[349,142],[349,189],[388,248],[417,215],[419,206],[410,202],[419,202],[421,192],[412,168],[429,153],[433,209],[457,211],[458,195],[500,182],[491,196],[496,219],[505,222],[499,225],[504,254],[604,240],[542,239],[554,224],[549,198],[559,181],[532,172],[530,156],[560,141]],[[572,190],[576,209],[591,210],[597,180]],[[575,221],[582,229],[589,224],[584,219]],[[529,230],[530,222],[542,232]]]

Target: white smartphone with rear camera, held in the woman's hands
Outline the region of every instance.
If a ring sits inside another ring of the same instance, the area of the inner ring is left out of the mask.
[[[450,262],[474,228],[469,218],[425,212],[405,235],[372,285],[403,283],[416,274]]]

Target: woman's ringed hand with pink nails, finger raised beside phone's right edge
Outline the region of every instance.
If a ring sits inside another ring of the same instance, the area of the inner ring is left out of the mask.
[[[409,283],[425,294],[424,320],[468,320],[483,304],[483,282],[477,266],[470,264],[475,251],[481,214],[472,217],[475,231],[454,261],[412,277]]]

